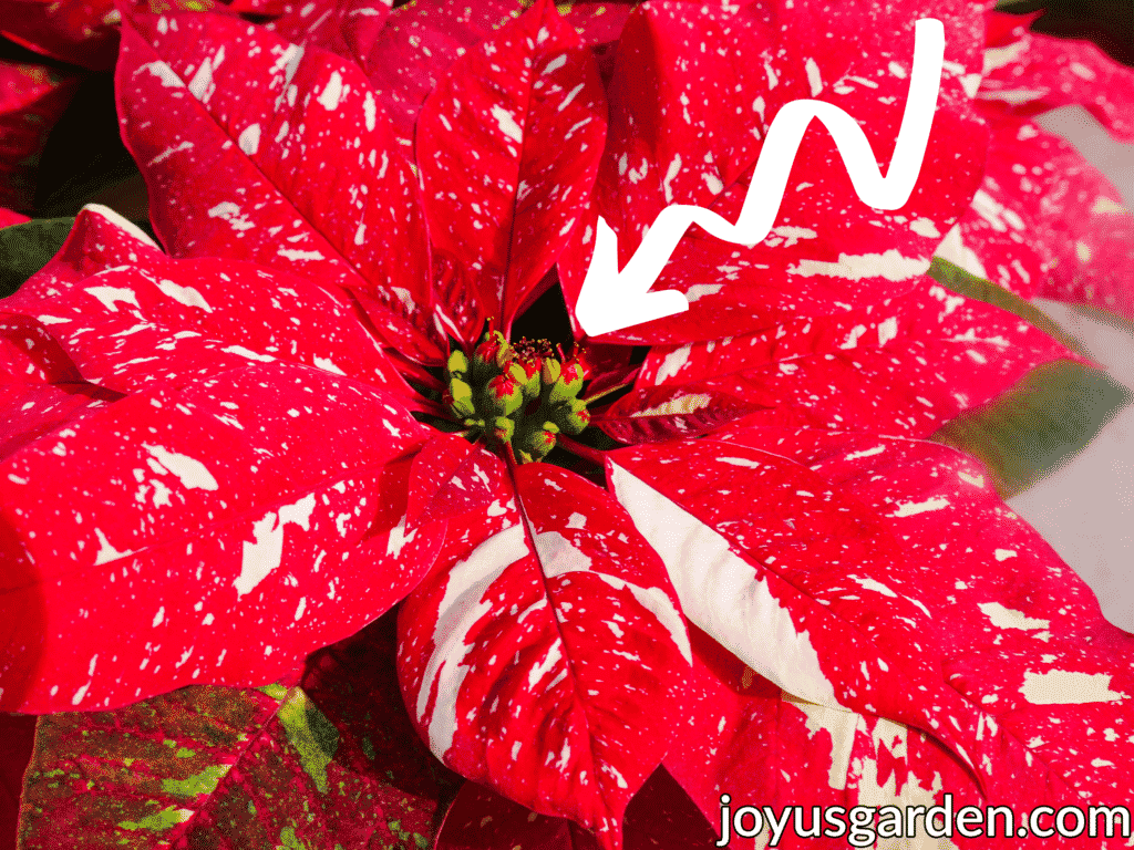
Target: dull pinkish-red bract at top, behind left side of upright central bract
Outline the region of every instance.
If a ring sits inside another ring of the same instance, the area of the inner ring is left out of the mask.
[[[390,12],[362,68],[401,145],[413,145],[417,112],[449,66],[523,10],[521,0],[417,0]]]

